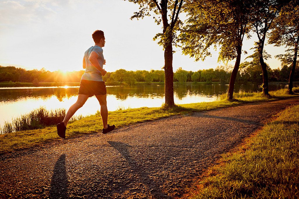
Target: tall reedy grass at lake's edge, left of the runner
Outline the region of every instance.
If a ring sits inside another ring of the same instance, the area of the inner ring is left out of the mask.
[[[46,126],[60,123],[64,117],[65,109],[60,108],[47,110],[45,107],[39,107],[32,110],[29,114],[13,118],[11,123],[5,122],[4,126],[0,127],[0,134],[44,128]],[[82,115],[75,116],[72,117],[70,121],[81,118]]]

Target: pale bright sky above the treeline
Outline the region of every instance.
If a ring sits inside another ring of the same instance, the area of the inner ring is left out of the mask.
[[[139,5],[123,0],[0,0],[0,65],[27,70],[83,70],[84,52],[94,45],[92,33],[103,30],[107,72],[161,70],[164,51],[152,38],[162,32],[162,25],[155,24],[151,16],[131,20],[138,10]],[[253,34],[243,42],[248,54],[242,54],[241,62],[253,53],[249,49],[256,39]],[[175,50],[173,71],[181,67],[195,72],[224,64],[217,62],[215,50],[212,57],[197,62]],[[265,62],[272,69],[280,67],[274,56],[286,49],[268,44],[265,50],[272,56]]]

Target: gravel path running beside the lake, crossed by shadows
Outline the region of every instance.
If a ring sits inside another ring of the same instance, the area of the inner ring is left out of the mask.
[[[180,197],[219,155],[293,104],[298,97],[196,112],[2,155],[0,198]]]

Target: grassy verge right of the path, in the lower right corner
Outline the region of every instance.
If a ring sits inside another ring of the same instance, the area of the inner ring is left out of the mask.
[[[223,156],[189,198],[299,198],[299,105]]]

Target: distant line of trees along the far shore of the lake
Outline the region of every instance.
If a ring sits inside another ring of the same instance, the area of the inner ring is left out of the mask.
[[[174,72],[173,81],[179,82],[228,82],[231,76],[232,65],[222,65],[214,69],[198,70],[196,72],[186,71],[179,68]],[[268,67],[269,81],[288,81],[291,67],[283,65],[278,69]],[[73,72],[62,72],[60,70],[50,72],[44,68],[41,70],[25,70],[13,66],[0,66],[0,82],[33,82],[38,85],[39,82],[80,82],[84,70]],[[163,70],[136,70],[127,71],[124,69],[115,72],[107,72],[103,80],[110,85],[126,83],[134,85],[136,82],[164,82],[165,76]],[[262,83],[262,70],[257,64],[244,62],[240,64],[240,70],[237,75],[237,82],[257,82]],[[294,81],[299,81],[298,61],[294,75]]]

